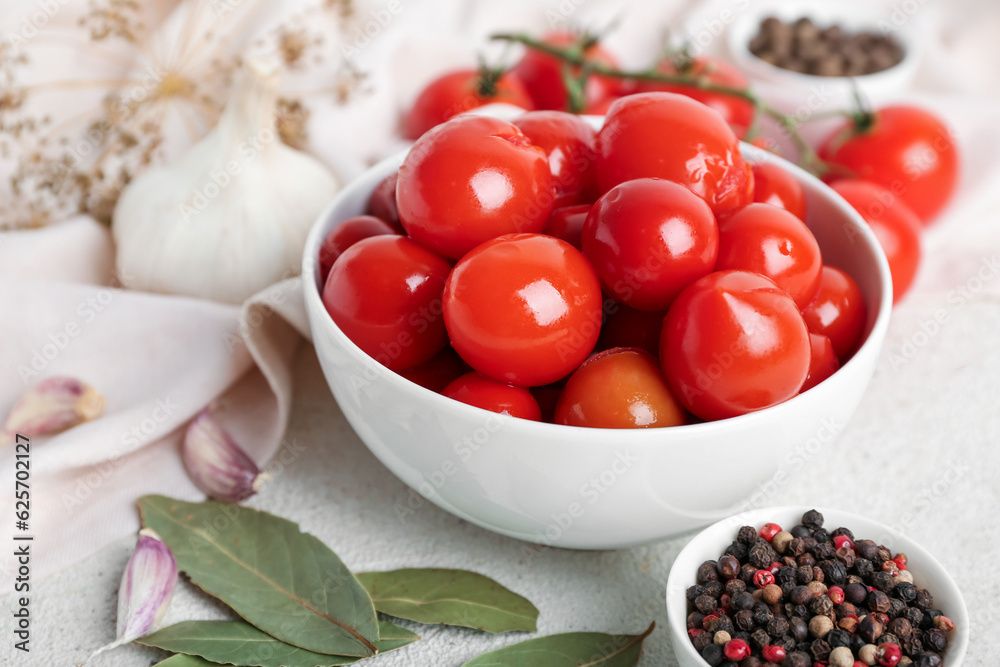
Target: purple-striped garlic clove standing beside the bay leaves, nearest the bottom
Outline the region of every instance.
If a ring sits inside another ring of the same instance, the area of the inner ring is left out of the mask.
[[[118,588],[117,638],[94,651],[90,658],[156,630],[176,587],[177,560],[173,552],[155,531],[143,528]]]

